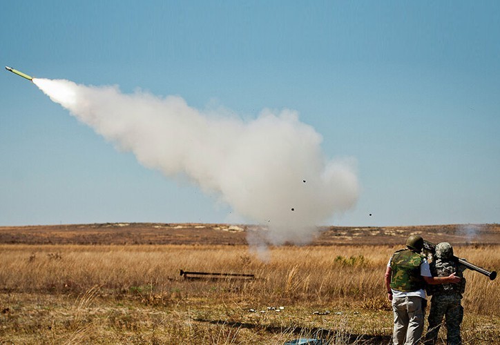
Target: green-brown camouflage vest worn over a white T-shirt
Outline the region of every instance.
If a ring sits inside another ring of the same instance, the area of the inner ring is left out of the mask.
[[[420,290],[424,280],[420,275],[420,265],[423,255],[412,250],[401,249],[391,258],[391,288],[398,291],[410,292]]]

